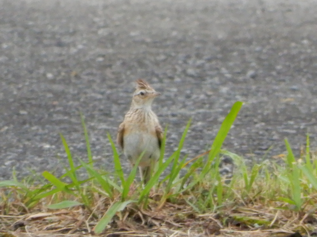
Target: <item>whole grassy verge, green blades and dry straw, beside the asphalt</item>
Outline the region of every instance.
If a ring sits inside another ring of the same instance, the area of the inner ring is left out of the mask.
[[[317,222],[317,159],[310,151],[309,138],[299,159],[286,140],[287,154],[280,156],[283,163],[264,161],[248,167],[242,157],[221,149],[241,106],[241,102],[232,106],[210,151],[187,161],[181,149],[189,121],[178,149],[166,159],[161,155],[145,186],[135,177],[138,162],[124,174],[109,134],[114,171],[109,174],[94,168],[82,119],[87,162],[78,159],[80,165],[75,166],[61,135],[68,158],[61,177],[44,171],[44,180],[37,185],[15,176],[0,182],[0,232],[19,236],[312,233]],[[166,130],[162,154],[165,138]],[[234,161],[230,179],[220,172],[223,156]],[[79,179],[79,172],[87,172],[88,178]]]

